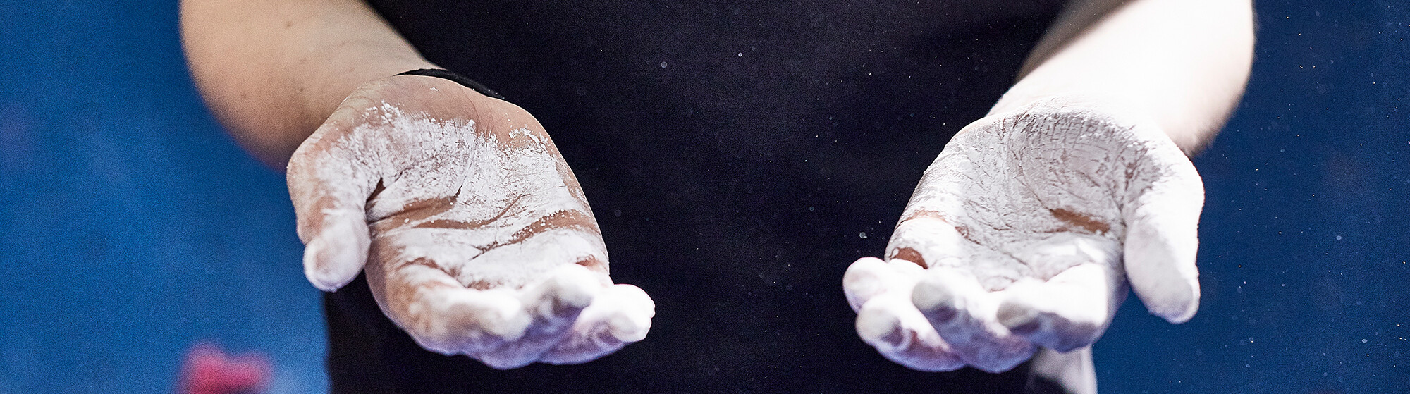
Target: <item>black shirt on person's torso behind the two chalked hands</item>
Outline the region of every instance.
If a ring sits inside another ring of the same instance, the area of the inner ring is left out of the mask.
[[[358,280],[326,298],[334,393],[1022,393],[863,343],[842,273],[1012,83],[1056,1],[374,1],[525,107],[572,166],[646,341],[496,371],[417,348]]]

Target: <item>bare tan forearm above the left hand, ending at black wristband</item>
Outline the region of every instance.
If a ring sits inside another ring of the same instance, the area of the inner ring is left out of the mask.
[[[183,0],[180,25],[207,106],[276,169],[358,84],[434,66],[358,0]]]

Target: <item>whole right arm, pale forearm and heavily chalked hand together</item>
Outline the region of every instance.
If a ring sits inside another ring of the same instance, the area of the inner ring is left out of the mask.
[[[1203,187],[1182,152],[1238,103],[1252,45],[1248,1],[1069,4],[926,170],[885,259],[847,269],[859,335],[918,370],[1036,357],[1094,393],[1087,346],[1128,287],[1170,322],[1198,308]]]

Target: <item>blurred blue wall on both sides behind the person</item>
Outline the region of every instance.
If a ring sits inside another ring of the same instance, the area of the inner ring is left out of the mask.
[[[1131,298],[1104,393],[1410,391],[1410,7],[1256,6],[1248,94],[1196,159],[1200,314]],[[326,391],[286,193],[202,106],[173,1],[0,7],[0,393],[169,393],[197,341]]]

